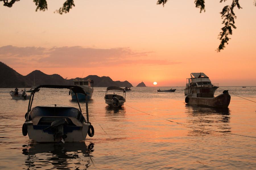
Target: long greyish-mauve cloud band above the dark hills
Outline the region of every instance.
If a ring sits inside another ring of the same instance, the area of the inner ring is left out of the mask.
[[[170,65],[179,62],[150,59],[151,51],[138,52],[130,48],[84,48],[72,47],[0,47],[0,60],[16,67],[28,67],[28,64],[40,67],[108,67],[123,65]]]

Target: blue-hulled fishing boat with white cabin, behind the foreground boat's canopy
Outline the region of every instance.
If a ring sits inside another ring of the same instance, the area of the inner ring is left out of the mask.
[[[77,80],[77,79],[75,79],[75,80],[73,80],[73,84],[74,84],[74,86],[79,86],[82,89],[84,89],[84,91],[87,94],[88,99],[92,98],[93,80],[90,80],[90,79],[88,79],[88,80],[82,80],[82,79]],[[69,95],[70,94],[71,94],[72,100],[77,100],[76,95],[72,90],[69,91]],[[82,94],[82,93],[78,93],[77,97],[78,97],[79,100],[85,100],[85,95]]]

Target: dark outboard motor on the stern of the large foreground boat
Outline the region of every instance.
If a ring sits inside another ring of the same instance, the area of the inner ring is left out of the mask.
[[[63,128],[64,126],[67,126],[67,124],[68,122],[65,118],[55,120],[51,123],[51,131],[53,132],[54,141],[65,143],[64,139],[67,138],[67,135],[64,134]]]

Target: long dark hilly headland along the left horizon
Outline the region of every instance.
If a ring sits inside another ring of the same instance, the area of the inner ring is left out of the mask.
[[[35,78],[35,81],[34,81]],[[80,79],[80,78],[75,78]],[[91,79],[94,81],[94,87],[133,87],[128,81],[113,81],[108,76],[89,75],[84,80]],[[49,85],[73,85],[73,79],[64,79],[59,74],[48,75],[40,70],[34,70],[26,76],[22,76],[11,67],[0,62],[0,88],[15,88],[15,87],[32,87],[43,84]]]

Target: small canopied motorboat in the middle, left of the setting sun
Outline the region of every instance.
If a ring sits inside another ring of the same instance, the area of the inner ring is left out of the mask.
[[[114,91],[113,94],[108,94],[108,91]],[[116,92],[123,92],[123,96],[115,94]],[[108,87],[105,94],[105,103],[108,104],[110,107],[121,107],[123,106],[125,100],[125,90],[121,87],[111,86]]]

